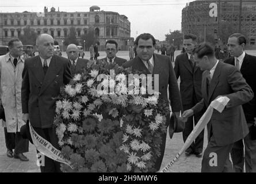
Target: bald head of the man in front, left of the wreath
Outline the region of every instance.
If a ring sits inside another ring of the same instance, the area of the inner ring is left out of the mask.
[[[49,34],[40,34],[36,39],[36,46],[43,59],[54,55],[54,39]]]

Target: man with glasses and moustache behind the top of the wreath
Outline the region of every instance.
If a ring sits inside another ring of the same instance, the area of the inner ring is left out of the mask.
[[[127,62],[127,60],[116,56],[116,53],[118,51],[117,46],[118,45],[117,45],[116,41],[114,41],[114,40],[106,41],[106,44],[105,44],[106,57],[103,58],[103,59],[98,60],[97,63],[102,63],[102,62],[116,63],[119,66],[122,66],[125,62]]]

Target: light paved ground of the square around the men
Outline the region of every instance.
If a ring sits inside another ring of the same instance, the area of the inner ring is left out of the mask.
[[[175,55],[178,55],[180,52],[176,51]],[[256,55],[255,51],[249,51],[248,53]],[[63,56],[66,56],[66,53],[63,53]],[[100,52],[100,57],[105,57],[106,54],[104,52]],[[117,53],[117,56],[128,59],[127,51],[120,51]],[[89,57],[89,52],[86,52],[86,58]],[[205,131],[205,137],[207,137],[207,133]],[[163,158],[162,168],[169,163],[174,156],[178,153],[183,145],[182,133],[175,133],[173,139],[170,139],[169,135],[167,135],[166,140],[166,150],[165,156]],[[204,140],[204,149],[207,146],[206,139]],[[11,173],[32,173],[32,172],[40,172],[39,167],[36,165],[36,150],[32,144],[29,144],[29,152],[25,154],[29,158],[29,162],[21,162],[19,159],[8,158],[6,156],[6,147],[5,147],[5,137],[3,128],[0,128],[0,172]],[[186,157],[184,154],[181,155],[179,160],[174,163],[174,165],[170,168],[169,172],[200,172],[201,168],[201,158],[197,158],[192,155]]]

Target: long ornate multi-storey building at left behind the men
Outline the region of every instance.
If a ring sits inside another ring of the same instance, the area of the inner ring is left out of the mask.
[[[94,29],[100,50],[105,48],[106,41],[110,39],[116,40],[122,50],[127,50],[133,41],[131,23],[126,16],[117,12],[100,11],[98,6],[91,6],[88,12],[55,11],[54,7],[48,12],[44,7],[44,13],[0,13],[0,45],[7,45],[10,39],[24,34],[26,26],[37,34],[51,34],[60,47],[63,47],[71,27],[75,28],[78,40],[87,34],[89,28]]]

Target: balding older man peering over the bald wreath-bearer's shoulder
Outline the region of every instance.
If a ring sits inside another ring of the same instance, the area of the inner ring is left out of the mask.
[[[84,69],[87,68],[87,63],[89,60],[81,59],[78,57],[79,49],[75,44],[69,44],[67,46],[67,58],[71,63],[71,74],[74,76],[75,74],[83,72]]]

